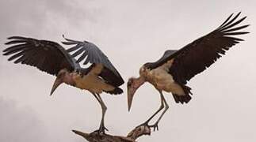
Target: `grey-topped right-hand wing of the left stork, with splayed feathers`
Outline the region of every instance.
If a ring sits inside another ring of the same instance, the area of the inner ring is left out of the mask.
[[[72,58],[80,56],[77,60],[78,63],[84,60],[83,65],[86,65],[89,62],[92,64],[101,64],[104,66],[104,69],[99,74],[100,77],[114,86],[124,84],[124,80],[120,76],[120,73],[118,73],[117,69],[109,61],[109,58],[94,43],[76,41],[65,37],[64,39],[67,41],[63,42],[63,44],[74,45],[74,47],[69,48],[67,52],[70,54],[74,52],[74,54],[71,54]]]

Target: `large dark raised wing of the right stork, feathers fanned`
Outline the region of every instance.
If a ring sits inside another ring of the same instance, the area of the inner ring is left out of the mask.
[[[240,13],[231,18],[233,16],[231,14],[219,28],[193,41],[193,43],[189,43],[181,48],[181,50],[162,60],[162,62],[158,62],[154,67],[174,59],[174,63],[170,67],[170,73],[178,83],[186,84],[192,77],[216,62],[221,57],[221,54],[225,54],[226,50],[229,50],[236,43],[243,41],[243,39],[238,39],[234,36],[249,33],[239,32],[239,30],[248,27],[249,24],[236,27],[237,24],[246,19],[246,17],[243,17],[235,21],[239,15]]]

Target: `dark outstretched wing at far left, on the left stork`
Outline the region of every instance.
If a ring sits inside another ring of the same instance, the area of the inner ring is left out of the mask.
[[[4,55],[11,55],[8,61],[36,66],[36,68],[57,75],[60,69],[75,69],[75,62],[67,51],[58,43],[21,36],[12,36],[6,45],[11,47],[3,50]]]

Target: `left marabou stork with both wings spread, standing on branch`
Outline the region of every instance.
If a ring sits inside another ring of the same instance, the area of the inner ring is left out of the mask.
[[[109,58],[94,43],[65,38],[66,41],[63,44],[74,46],[65,50],[59,43],[48,40],[21,36],[8,39],[10,41],[6,45],[11,45],[11,47],[3,50],[4,55],[11,55],[8,61],[14,60],[15,64],[32,65],[56,76],[51,95],[63,83],[92,93],[102,109],[101,125],[97,131],[105,133],[107,129],[104,125],[104,118],[107,107],[100,94],[101,92],[113,95],[123,93],[119,86],[124,84],[124,80]],[[78,60],[75,57],[79,57]],[[89,62],[91,65],[88,68],[82,68],[79,65],[82,61],[84,61],[83,65]]]

